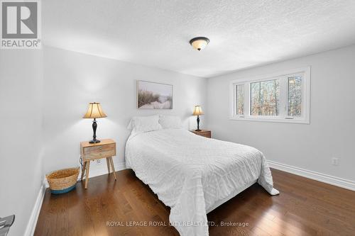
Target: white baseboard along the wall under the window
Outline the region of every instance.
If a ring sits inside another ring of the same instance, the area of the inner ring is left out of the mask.
[[[328,174],[322,174],[319,172],[312,172],[307,169],[302,169],[299,167],[293,167],[288,164],[281,164],[278,162],[268,161],[268,164],[271,168],[279,169],[283,172],[288,172],[291,174],[297,174],[299,176],[306,177],[308,179],[314,179],[326,184],[332,184],[334,186],[338,186],[344,189],[349,189],[355,191],[355,181],[351,181],[349,179],[342,179],[336,176],[331,176]]]

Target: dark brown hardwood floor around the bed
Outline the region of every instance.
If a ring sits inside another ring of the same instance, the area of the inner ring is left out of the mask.
[[[279,196],[258,184],[207,215],[209,235],[355,235],[355,192],[272,169]],[[178,235],[170,226],[129,227],[127,223],[169,223],[170,209],[131,170],[90,179],[70,193],[47,189],[35,235]],[[116,226],[107,226],[116,224]]]

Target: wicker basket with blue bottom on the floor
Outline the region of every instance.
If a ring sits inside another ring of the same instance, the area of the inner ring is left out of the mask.
[[[67,193],[75,188],[79,167],[70,169],[60,169],[58,171],[46,174],[50,191],[52,193]]]

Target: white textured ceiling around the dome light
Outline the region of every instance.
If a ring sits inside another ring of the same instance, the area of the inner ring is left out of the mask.
[[[45,0],[45,45],[212,77],[355,43],[354,0]],[[198,52],[196,36],[211,41]]]

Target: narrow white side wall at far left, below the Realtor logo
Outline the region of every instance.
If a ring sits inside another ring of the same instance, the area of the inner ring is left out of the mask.
[[[15,214],[9,236],[24,235],[43,183],[43,52],[0,50],[0,217]]]

